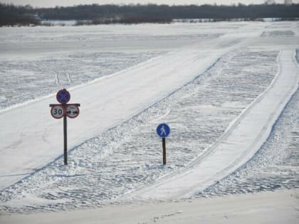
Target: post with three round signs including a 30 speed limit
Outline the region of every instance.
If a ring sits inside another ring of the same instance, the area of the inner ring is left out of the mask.
[[[68,127],[67,118],[75,118],[79,115],[80,104],[68,104],[70,101],[70,92],[68,90],[59,90],[56,95],[56,100],[61,104],[51,104],[51,115],[56,119],[63,117],[63,161],[68,165]]]

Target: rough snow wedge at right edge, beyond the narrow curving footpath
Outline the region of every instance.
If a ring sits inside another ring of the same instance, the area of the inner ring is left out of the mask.
[[[296,50],[299,69],[299,50]],[[294,62],[295,63],[295,62]],[[299,89],[285,106],[261,149],[246,164],[195,197],[299,187]]]

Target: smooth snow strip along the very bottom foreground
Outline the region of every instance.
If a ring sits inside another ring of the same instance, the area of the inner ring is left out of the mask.
[[[298,223],[298,189],[197,200],[110,205],[35,215],[6,215],[4,223]]]

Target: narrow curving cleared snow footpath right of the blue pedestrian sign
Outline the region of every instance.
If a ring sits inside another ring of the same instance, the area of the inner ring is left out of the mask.
[[[206,149],[192,166],[125,198],[189,198],[251,159],[268,138],[273,124],[298,88],[299,73],[294,51],[282,50],[278,63],[280,69],[271,85],[248,105],[225,134]]]

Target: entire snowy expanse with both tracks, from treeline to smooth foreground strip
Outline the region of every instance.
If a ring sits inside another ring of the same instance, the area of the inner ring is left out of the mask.
[[[298,36],[298,22],[1,28],[0,220],[298,188]],[[63,87],[81,103],[68,166],[48,107]]]

